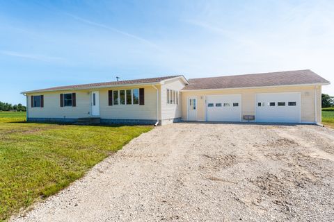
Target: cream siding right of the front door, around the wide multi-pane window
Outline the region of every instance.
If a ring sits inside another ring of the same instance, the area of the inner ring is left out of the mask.
[[[144,88],[144,105],[109,105],[108,91]],[[160,86],[157,86],[159,89]],[[159,90],[160,92],[160,90]],[[159,104],[158,104],[159,105]],[[101,119],[152,119],[157,120],[157,89],[152,85],[134,87],[113,87],[100,89]],[[160,117],[159,117],[160,119]]]

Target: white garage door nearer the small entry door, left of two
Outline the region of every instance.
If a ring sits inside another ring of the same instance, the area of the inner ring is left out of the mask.
[[[206,121],[241,121],[241,95],[214,95],[205,98]]]

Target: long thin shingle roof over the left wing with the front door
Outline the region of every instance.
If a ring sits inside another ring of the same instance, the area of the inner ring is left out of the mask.
[[[179,75],[180,76],[180,75]],[[113,82],[106,82],[106,83],[90,83],[90,84],[81,84],[81,85],[65,85],[65,86],[58,86],[58,87],[51,87],[46,89],[36,89],[31,91],[26,91],[22,93],[33,93],[33,92],[52,92],[52,91],[59,91],[59,90],[76,90],[76,89],[93,89],[95,87],[115,87],[118,85],[132,85],[132,84],[148,84],[148,83],[159,83],[162,80],[167,80],[169,78],[175,78],[179,76],[163,76],[157,78],[141,78],[141,79],[134,79],[134,80],[122,80],[122,81],[113,81]]]

